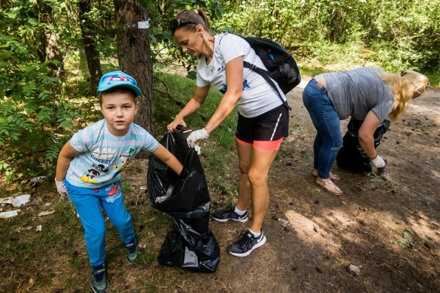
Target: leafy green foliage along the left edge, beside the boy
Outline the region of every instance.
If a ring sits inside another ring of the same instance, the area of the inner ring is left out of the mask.
[[[23,176],[52,171],[63,137],[78,117],[64,97],[63,82],[51,77],[49,62],[39,58],[35,45],[44,25],[32,3],[14,4],[0,12],[0,145],[8,147],[7,180],[17,178],[12,172],[18,169]]]

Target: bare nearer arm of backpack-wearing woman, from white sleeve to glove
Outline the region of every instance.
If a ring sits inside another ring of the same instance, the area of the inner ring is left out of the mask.
[[[204,127],[208,134],[230,115],[236,103],[241,99],[243,92],[243,56],[234,58],[226,63],[226,86],[228,89],[223,99],[221,99],[214,115],[212,115],[208,124]]]

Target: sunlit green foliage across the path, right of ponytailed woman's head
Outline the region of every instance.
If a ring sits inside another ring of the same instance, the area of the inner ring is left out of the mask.
[[[272,38],[298,59],[373,63],[390,71],[436,71],[439,1],[226,1],[217,31]],[[334,54],[358,47],[353,56]],[[362,52],[363,51],[363,52]],[[327,60],[325,60],[327,59]]]

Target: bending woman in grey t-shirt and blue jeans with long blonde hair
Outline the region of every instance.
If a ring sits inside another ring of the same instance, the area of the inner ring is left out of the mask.
[[[350,71],[322,73],[310,80],[303,91],[303,102],[317,130],[314,141],[316,183],[331,194],[342,194],[330,173],[338,150],[342,148],[340,120],[349,116],[363,120],[358,132],[362,150],[377,168],[385,161],[374,148],[373,134],[382,121],[395,121],[404,115],[408,102],[429,86],[428,78],[415,71],[386,73],[363,67]]]

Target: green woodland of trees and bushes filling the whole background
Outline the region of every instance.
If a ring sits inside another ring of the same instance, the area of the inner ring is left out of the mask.
[[[59,148],[99,114],[101,70],[136,78],[144,95],[135,122],[154,134],[153,68],[183,65],[195,75],[195,60],[169,32],[182,9],[203,8],[215,33],[272,38],[300,62],[440,74],[439,1],[14,0],[0,7],[0,172],[8,179],[53,172]],[[148,30],[139,29],[148,17]],[[87,66],[78,62],[83,48]]]

